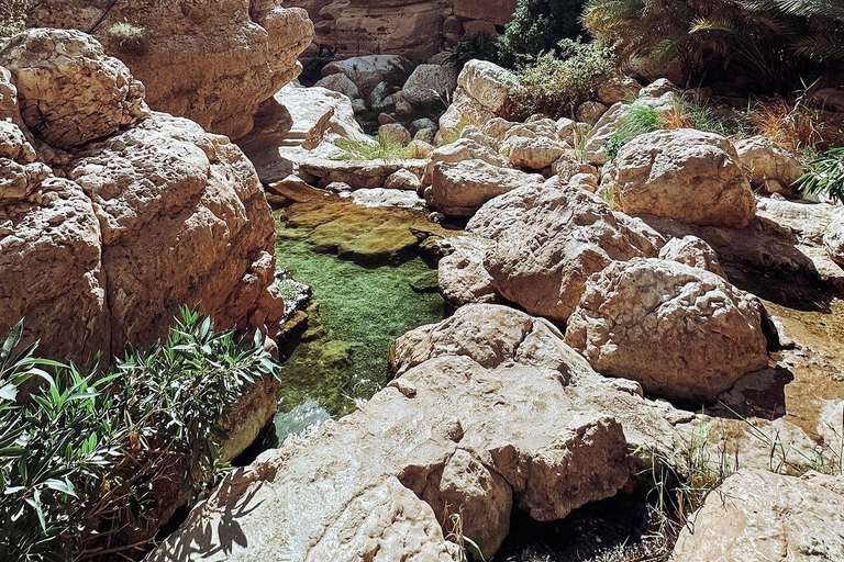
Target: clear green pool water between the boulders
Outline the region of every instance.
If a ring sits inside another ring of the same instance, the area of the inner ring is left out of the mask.
[[[311,285],[316,303],[309,310],[302,342],[285,362],[279,411],[315,401],[342,416],[356,398],[384,387],[397,337],[444,317],[445,303],[432,290],[436,270],[419,257],[398,266],[363,267],[316,251],[310,228],[279,223],[277,229],[279,267]]]

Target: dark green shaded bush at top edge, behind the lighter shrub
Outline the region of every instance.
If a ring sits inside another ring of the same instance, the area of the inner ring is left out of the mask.
[[[580,12],[584,0],[519,0],[512,20],[500,38],[500,55],[508,66],[555,53],[562,40],[584,34]]]

